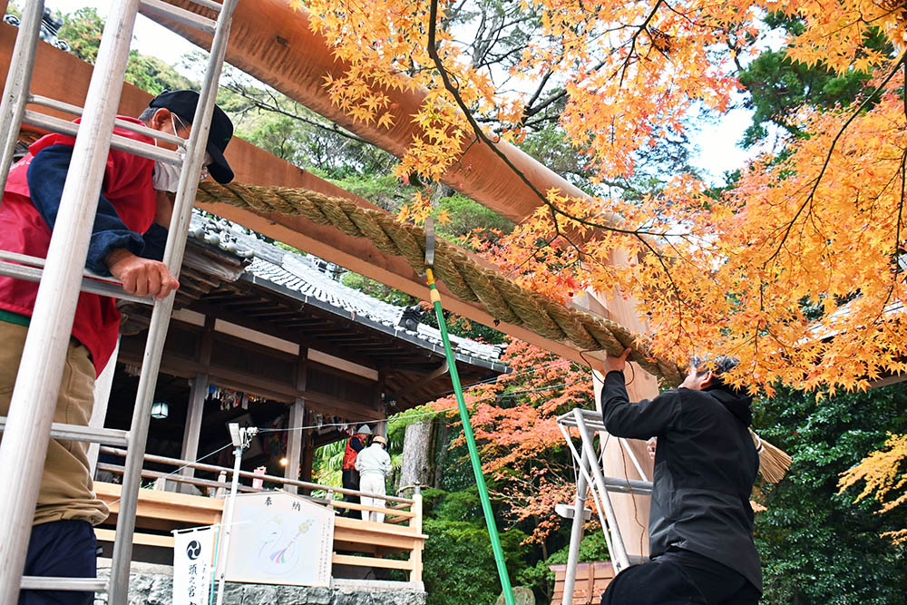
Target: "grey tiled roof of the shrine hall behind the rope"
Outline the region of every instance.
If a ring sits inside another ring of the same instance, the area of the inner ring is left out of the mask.
[[[240,258],[250,259],[242,278],[260,286],[282,290],[306,304],[314,304],[336,315],[350,317],[444,355],[441,332],[437,328],[424,324],[419,324],[416,330],[401,327],[399,322],[405,307],[396,307],[344,286],[333,278],[336,271],[343,272],[344,269],[333,263],[269,244],[249,233],[248,229],[228,220],[210,219],[198,210],[192,214],[189,235],[190,238],[200,239]],[[506,371],[506,366],[500,362],[502,346],[453,335],[450,339],[458,359]]]

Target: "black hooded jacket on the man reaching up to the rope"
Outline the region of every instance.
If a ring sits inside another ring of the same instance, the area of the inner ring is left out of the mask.
[[[624,376],[610,372],[601,410],[610,434],[658,437],[649,515],[651,556],[694,551],[739,572],[762,590],[749,496],[759,469],[747,430],[751,398],[723,387],[678,388],[630,404]]]

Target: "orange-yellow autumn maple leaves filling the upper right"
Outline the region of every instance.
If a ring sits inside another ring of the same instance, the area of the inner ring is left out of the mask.
[[[523,285],[561,299],[617,291],[649,317],[653,351],[681,363],[704,350],[732,354],[742,361],[736,381],[768,394],[780,383],[834,395],[907,371],[907,3],[522,0],[539,26],[507,78],[456,44],[449,0],[307,6],[348,65],[326,94],[355,121],[391,126],[385,91],[424,92],[401,177],[439,179],[476,134],[520,141],[534,101],[522,91],[542,79],[560,87],[558,127],[593,172],[593,190],[579,199],[542,191],[537,212],[486,250]],[[642,200],[596,188],[633,174],[639,152],[685,132],[694,109],[727,109],[735,66],[763,47],[768,12],[802,24],[784,41],[792,60],[866,73],[873,93],[831,111],[801,107],[788,120],[806,135],[766,149],[727,190],[689,174]],[[871,35],[882,36],[881,50],[864,44]],[[426,203],[406,212],[424,217]],[[619,224],[603,218],[614,213]],[[487,452],[500,454],[490,470],[554,434],[546,406],[478,405],[480,430],[491,415],[512,425],[512,443],[487,445],[502,448]],[[886,455],[907,455],[901,437],[890,444]],[[846,481],[871,490],[893,481],[875,476]],[[903,478],[891,489],[902,491]]]

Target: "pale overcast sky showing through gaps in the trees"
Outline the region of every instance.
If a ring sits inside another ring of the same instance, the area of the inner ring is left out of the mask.
[[[23,2],[18,0],[16,4],[22,5]],[[63,13],[72,13],[83,6],[93,6],[100,15],[106,16],[111,0],[45,0],[45,5]],[[135,48],[142,54],[151,54],[172,65],[179,63],[180,56],[197,47],[180,35],[139,15],[135,24]],[[715,184],[721,181],[725,171],[741,168],[746,162],[749,154],[740,149],[736,142],[742,138],[750,123],[750,116],[751,113],[745,110],[729,112],[716,124],[704,124],[700,132],[691,137],[699,148],[693,164],[706,172],[707,181]]]

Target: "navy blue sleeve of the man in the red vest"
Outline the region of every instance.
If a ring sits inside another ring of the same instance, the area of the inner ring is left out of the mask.
[[[32,195],[32,203],[51,229],[54,229],[57,212],[60,210],[63,184],[66,182],[66,172],[72,158],[73,148],[69,145],[51,145],[39,151],[28,167],[28,189]],[[145,241],[141,235],[132,232],[123,224],[113,204],[102,194],[94,217],[85,267],[98,275],[110,276],[111,273],[104,263],[108,254],[116,249],[127,249],[132,254],[141,256],[144,248]]]

